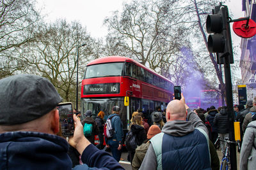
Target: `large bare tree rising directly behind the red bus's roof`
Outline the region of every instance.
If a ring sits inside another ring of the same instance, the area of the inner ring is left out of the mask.
[[[104,21],[109,29],[108,53],[131,57],[164,76],[170,76],[170,67],[177,64],[180,48],[189,46],[185,36],[187,30],[177,24],[180,14],[173,11],[177,8],[175,2],[132,1],[124,4],[121,14],[115,11]]]

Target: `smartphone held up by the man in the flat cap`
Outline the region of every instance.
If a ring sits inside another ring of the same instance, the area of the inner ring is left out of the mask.
[[[59,103],[57,106],[60,115],[60,131],[63,137],[73,136],[75,126],[72,103]]]

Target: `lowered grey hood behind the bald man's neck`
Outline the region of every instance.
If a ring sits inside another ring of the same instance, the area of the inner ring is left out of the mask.
[[[162,132],[170,134],[172,136],[185,136],[186,134],[193,132],[195,127],[190,121],[173,120],[166,122],[162,129]]]

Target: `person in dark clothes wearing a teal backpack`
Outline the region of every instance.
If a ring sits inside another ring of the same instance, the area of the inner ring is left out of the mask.
[[[95,138],[94,136],[99,134],[99,128],[98,128],[98,125],[97,123],[95,122],[95,120],[92,118],[92,111],[91,110],[87,110],[85,112],[85,116],[86,118],[84,118],[84,120],[82,120],[82,125],[86,125],[86,124],[92,124],[92,134],[89,135],[89,136],[86,136],[85,137],[90,141],[90,143],[93,143],[94,144],[94,141],[95,141]]]

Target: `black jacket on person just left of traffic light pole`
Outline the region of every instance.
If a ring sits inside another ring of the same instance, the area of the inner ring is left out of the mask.
[[[227,134],[230,131],[227,110],[222,108],[214,117],[213,124],[218,128],[219,134]]]

